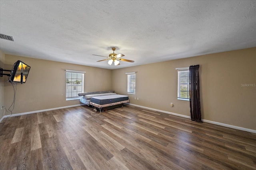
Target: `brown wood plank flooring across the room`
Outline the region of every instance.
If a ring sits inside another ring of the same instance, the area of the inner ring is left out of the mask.
[[[256,170],[256,134],[134,106],[5,118],[0,170]]]

